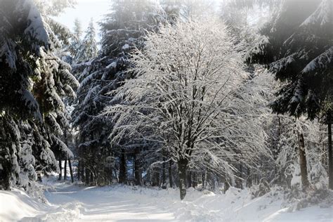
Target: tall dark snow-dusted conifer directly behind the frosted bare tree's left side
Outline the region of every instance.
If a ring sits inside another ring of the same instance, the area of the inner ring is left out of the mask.
[[[81,83],[73,112],[73,125],[79,129],[80,159],[85,167],[89,167],[88,171],[97,169],[97,176],[105,175],[107,159],[115,159],[115,166],[122,166],[119,174],[126,173],[127,152],[122,152],[120,148],[110,150],[107,137],[112,123],[98,117],[98,113],[110,103],[107,93],[117,89],[124,79],[131,76],[126,72],[131,67],[129,52],[143,46],[145,32],[157,30],[163,16],[159,12],[159,5],[155,1],[115,1],[111,13],[100,23],[102,39],[98,57],[74,67]],[[99,153],[107,155],[101,156]],[[108,173],[105,181],[110,181],[111,177],[112,174]],[[125,178],[126,182],[126,176],[119,178]]]

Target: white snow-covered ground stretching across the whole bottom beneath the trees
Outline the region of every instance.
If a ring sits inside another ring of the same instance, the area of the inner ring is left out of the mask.
[[[0,221],[333,221],[333,207],[288,212],[273,195],[251,199],[248,190],[226,195],[112,185],[52,182],[42,204],[20,190],[0,191]]]

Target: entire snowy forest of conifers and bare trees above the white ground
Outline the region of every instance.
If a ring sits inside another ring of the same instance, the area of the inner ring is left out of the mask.
[[[80,1],[0,0],[0,196],[278,193],[333,220],[332,0],[110,0],[58,22]]]

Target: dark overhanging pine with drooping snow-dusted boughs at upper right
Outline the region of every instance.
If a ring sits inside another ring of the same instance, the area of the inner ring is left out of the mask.
[[[301,8],[300,8],[301,7]],[[332,116],[332,1],[283,1],[274,20],[261,31],[266,37],[252,48],[249,63],[268,66],[284,82],[274,112],[303,114],[309,119]],[[329,188],[333,188],[332,139],[329,136]]]

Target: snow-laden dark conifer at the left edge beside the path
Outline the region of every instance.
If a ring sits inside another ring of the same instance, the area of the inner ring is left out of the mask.
[[[60,41],[33,1],[0,4],[1,188],[28,189],[36,173],[57,169],[52,150],[71,154],[58,136],[68,123],[62,98],[74,96],[77,81],[55,55]]]

